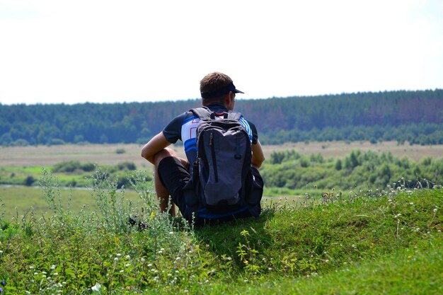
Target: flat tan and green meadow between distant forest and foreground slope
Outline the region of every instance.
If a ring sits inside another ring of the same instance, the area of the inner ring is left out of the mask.
[[[0,198],[4,200],[5,216],[21,215],[33,207],[35,212],[44,214],[47,206],[42,201],[40,189],[31,187],[38,185],[42,169],[54,170],[59,163],[69,163],[78,161],[79,163],[96,163],[110,170],[111,167],[122,163],[134,163],[138,170],[145,170],[147,178],[151,178],[152,166],[140,156],[142,146],[139,144],[67,144],[61,146],[3,146],[0,147]],[[173,149],[180,156],[184,156],[183,147],[173,146]],[[299,154],[306,156],[321,154],[323,158],[338,158],[350,154],[351,151],[377,151],[380,153],[390,152],[398,158],[407,157],[413,161],[420,161],[428,156],[439,158],[443,155],[443,145],[418,146],[398,145],[394,141],[386,141],[378,144],[369,142],[309,142],[292,143],[280,146],[263,146],[266,162],[271,161],[272,153],[296,150]],[[90,165],[91,166],[91,165]],[[74,212],[79,212],[84,204],[95,208],[91,199],[91,194],[86,187],[91,187],[88,178],[91,178],[91,168],[88,170],[71,169],[67,172],[53,172],[57,179],[64,186],[71,186],[74,189],[62,190],[65,199],[71,197],[71,208]],[[115,177],[120,178],[120,184],[128,186],[127,170],[116,171]],[[321,173],[321,172],[318,172]],[[29,185],[29,187],[23,186]],[[265,187],[265,195],[277,197],[291,197],[297,199],[306,193],[310,195],[321,195],[322,190],[315,190],[304,187],[300,190],[287,190],[280,187]],[[127,199],[137,202],[139,198],[133,190],[126,190]]]

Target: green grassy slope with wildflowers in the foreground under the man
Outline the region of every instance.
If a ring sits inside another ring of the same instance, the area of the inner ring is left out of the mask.
[[[52,216],[2,221],[5,294],[442,294],[442,189],[283,198],[258,219],[192,229],[157,212],[146,182],[137,208],[104,176],[92,214],[65,209],[46,175]]]

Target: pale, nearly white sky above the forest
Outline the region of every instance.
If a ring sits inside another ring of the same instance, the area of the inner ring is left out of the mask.
[[[0,103],[443,88],[443,0],[0,0]]]

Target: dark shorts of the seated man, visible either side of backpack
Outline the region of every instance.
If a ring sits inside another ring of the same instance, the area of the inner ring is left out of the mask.
[[[174,204],[178,207],[181,214],[185,216],[186,203],[183,197],[183,187],[190,180],[190,173],[188,169],[183,166],[178,158],[166,157],[160,161],[159,167],[159,178],[164,187],[171,194],[171,199]],[[261,177],[258,169],[252,167],[252,173],[254,176],[255,184],[263,188],[263,178]],[[260,204],[255,207],[248,208],[247,212],[242,212],[241,214],[235,214],[231,216],[235,218],[258,216],[260,214]],[[186,217],[186,216],[185,216]]]

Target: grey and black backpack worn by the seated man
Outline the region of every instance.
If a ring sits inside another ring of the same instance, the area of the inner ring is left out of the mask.
[[[251,139],[241,125],[241,113],[215,113],[208,108],[191,111],[200,122],[196,131],[197,160],[186,185],[192,187],[192,193],[188,190],[185,194],[187,206],[197,217],[202,213],[210,219],[260,203],[261,193],[260,197],[251,194]]]

